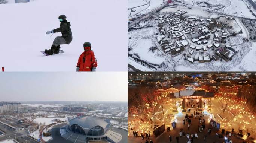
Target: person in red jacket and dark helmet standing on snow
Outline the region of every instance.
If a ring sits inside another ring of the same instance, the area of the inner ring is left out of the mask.
[[[83,49],[85,50],[79,57],[76,71],[95,71],[98,66],[95,55],[91,50],[91,43],[85,42],[83,44]]]

